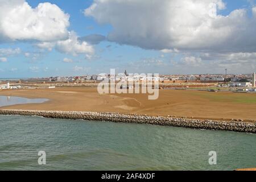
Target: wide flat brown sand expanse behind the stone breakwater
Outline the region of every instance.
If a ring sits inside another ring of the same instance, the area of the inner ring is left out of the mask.
[[[172,115],[199,119],[256,119],[255,93],[159,90],[158,100],[147,94],[104,94],[96,88],[1,90],[0,96],[48,98],[43,104],[24,104],[0,109],[97,111],[126,114]]]

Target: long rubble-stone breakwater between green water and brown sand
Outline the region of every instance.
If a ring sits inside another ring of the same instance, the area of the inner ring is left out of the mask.
[[[227,130],[256,133],[256,123],[214,121],[209,119],[152,117],[141,114],[96,113],[84,111],[44,111],[44,110],[0,110],[0,115],[40,116],[45,118],[83,119],[89,121],[109,121],[123,123],[143,123],[149,125],[187,127],[192,129]]]

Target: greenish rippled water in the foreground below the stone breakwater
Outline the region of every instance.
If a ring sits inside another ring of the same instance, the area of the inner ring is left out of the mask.
[[[255,134],[0,115],[0,170],[234,170],[255,151]]]

